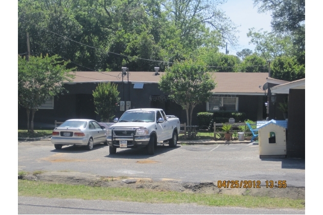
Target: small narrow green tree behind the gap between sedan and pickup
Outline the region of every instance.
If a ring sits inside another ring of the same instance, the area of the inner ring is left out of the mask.
[[[98,84],[93,91],[96,113],[104,122],[109,122],[115,116],[116,106],[120,101],[117,85],[113,83]]]

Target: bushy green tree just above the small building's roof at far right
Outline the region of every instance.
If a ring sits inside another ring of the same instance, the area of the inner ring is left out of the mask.
[[[305,78],[305,65],[299,65],[296,57],[277,57],[271,65],[271,77],[284,81],[295,81]]]

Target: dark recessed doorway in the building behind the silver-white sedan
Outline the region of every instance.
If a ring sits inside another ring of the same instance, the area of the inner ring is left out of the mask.
[[[95,120],[95,106],[92,94],[76,94],[76,118]]]

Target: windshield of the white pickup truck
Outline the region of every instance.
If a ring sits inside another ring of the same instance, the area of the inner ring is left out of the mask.
[[[127,111],[121,116],[119,122],[155,122],[154,111]]]

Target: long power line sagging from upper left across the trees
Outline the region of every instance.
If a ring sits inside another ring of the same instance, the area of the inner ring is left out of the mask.
[[[139,58],[139,57],[132,57],[132,56],[128,56],[128,55],[123,55],[123,54],[118,54],[118,53],[114,53],[114,52],[104,51],[104,50],[98,49],[97,47],[94,47],[94,46],[91,46],[91,45],[87,45],[87,44],[84,44],[84,43],[81,43],[81,42],[75,41],[75,40],[73,40],[73,39],[70,39],[70,38],[68,38],[68,37],[66,37],[66,36],[62,36],[62,35],[60,35],[60,34],[57,34],[57,33],[55,33],[55,32],[52,32],[52,31],[50,31],[50,30],[48,30],[48,29],[46,29],[46,28],[44,28],[44,27],[41,27],[41,26],[39,26],[39,25],[37,25],[37,24],[35,24],[35,23],[31,22],[31,21],[28,21],[28,20],[26,20],[26,19],[24,19],[24,18],[21,18],[21,17],[18,17],[18,18],[19,18],[19,19],[23,19],[23,20],[25,20],[25,21],[27,21],[27,22],[31,23],[32,25],[38,26],[38,27],[40,27],[40,28],[42,28],[42,29],[44,29],[44,30],[46,30],[46,31],[48,31],[48,32],[51,32],[51,33],[53,33],[53,34],[55,34],[55,35],[57,35],[57,36],[59,36],[59,37],[62,37],[62,38],[64,38],[64,39],[68,39],[68,40],[70,40],[70,41],[72,41],[72,42],[79,43],[79,44],[81,44],[81,45],[84,45],[84,46],[90,47],[90,48],[95,49],[95,50],[99,50],[99,51],[101,51],[101,52],[106,52],[106,53],[110,53],[110,54],[115,54],[115,55],[119,55],[119,56],[123,56],[123,57],[127,57],[127,58],[136,58],[136,59],[140,59],[140,60],[147,60],[147,61],[153,61],[153,62],[159,62],[159,63],[181,64],[181,63],[167,62],[167,61],[161,61],[161,60],[152,60],[152,59],[145,59],[145,58]],[[239,67],[245,67],[245,66],[204,66],[204,65],[195,65],[195,64],[185,64],[185,65],[188,65],[188,66],[202,66],[202,67],[208,67],[208,68],[239,68]],[[263,65],[253,65],[253,66],[251,66],[251,67],[254,67],[254,66],[263,66]],[[249,67],[250,67],[250,66],[249,66]]]

